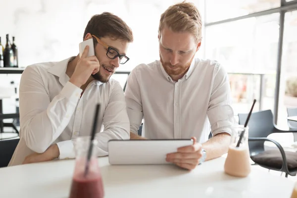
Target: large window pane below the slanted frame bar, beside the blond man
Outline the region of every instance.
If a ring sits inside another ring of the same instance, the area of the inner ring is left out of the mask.
[[[279,13],[207,26],[205,57],[229,73],[235,114],[274,109]]]

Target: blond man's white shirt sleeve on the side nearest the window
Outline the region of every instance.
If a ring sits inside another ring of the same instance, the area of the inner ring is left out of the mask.
[[[217,64],[214,68],[213,86],[207,110],[212,136],[224,132],[232,135],[235,119],[231,104],[228,74],[220,64]]]

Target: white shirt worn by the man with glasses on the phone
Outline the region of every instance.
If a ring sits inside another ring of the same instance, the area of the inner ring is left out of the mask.
[[[91,134],[98,102],[98,155],[108,154],[109,140],[130,138],[120,84],[113,79],[107,83],[94,80],[81,96],[82,89],[70,83],[65,73],[69,60],[30,65],[23,72],[19,92],[20,141],[9,165],[21,164],[28,154],[42,153],[52,144],[57,144],[60,159],[74,158],[73,141]]]

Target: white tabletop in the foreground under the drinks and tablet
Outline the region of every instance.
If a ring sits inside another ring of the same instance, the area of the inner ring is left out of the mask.
[[[224,174],[225,158],[193,171],[174,165],[109,165],[99,157],[105,198],[290,198],[294,183],[252,167],[247,178]],[[74,160],[0,168],[0,198],[67,198]]]

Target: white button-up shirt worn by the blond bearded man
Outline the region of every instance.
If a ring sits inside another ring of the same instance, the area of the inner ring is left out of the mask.
[[[130,130],[144,118],[142,136],[148,139],[188,139],[204,143],[212,132],[232,133],[234,113],[227,72],[216,61],[193,59],[177,82],[159,60],[138,65],[125,90]]]

